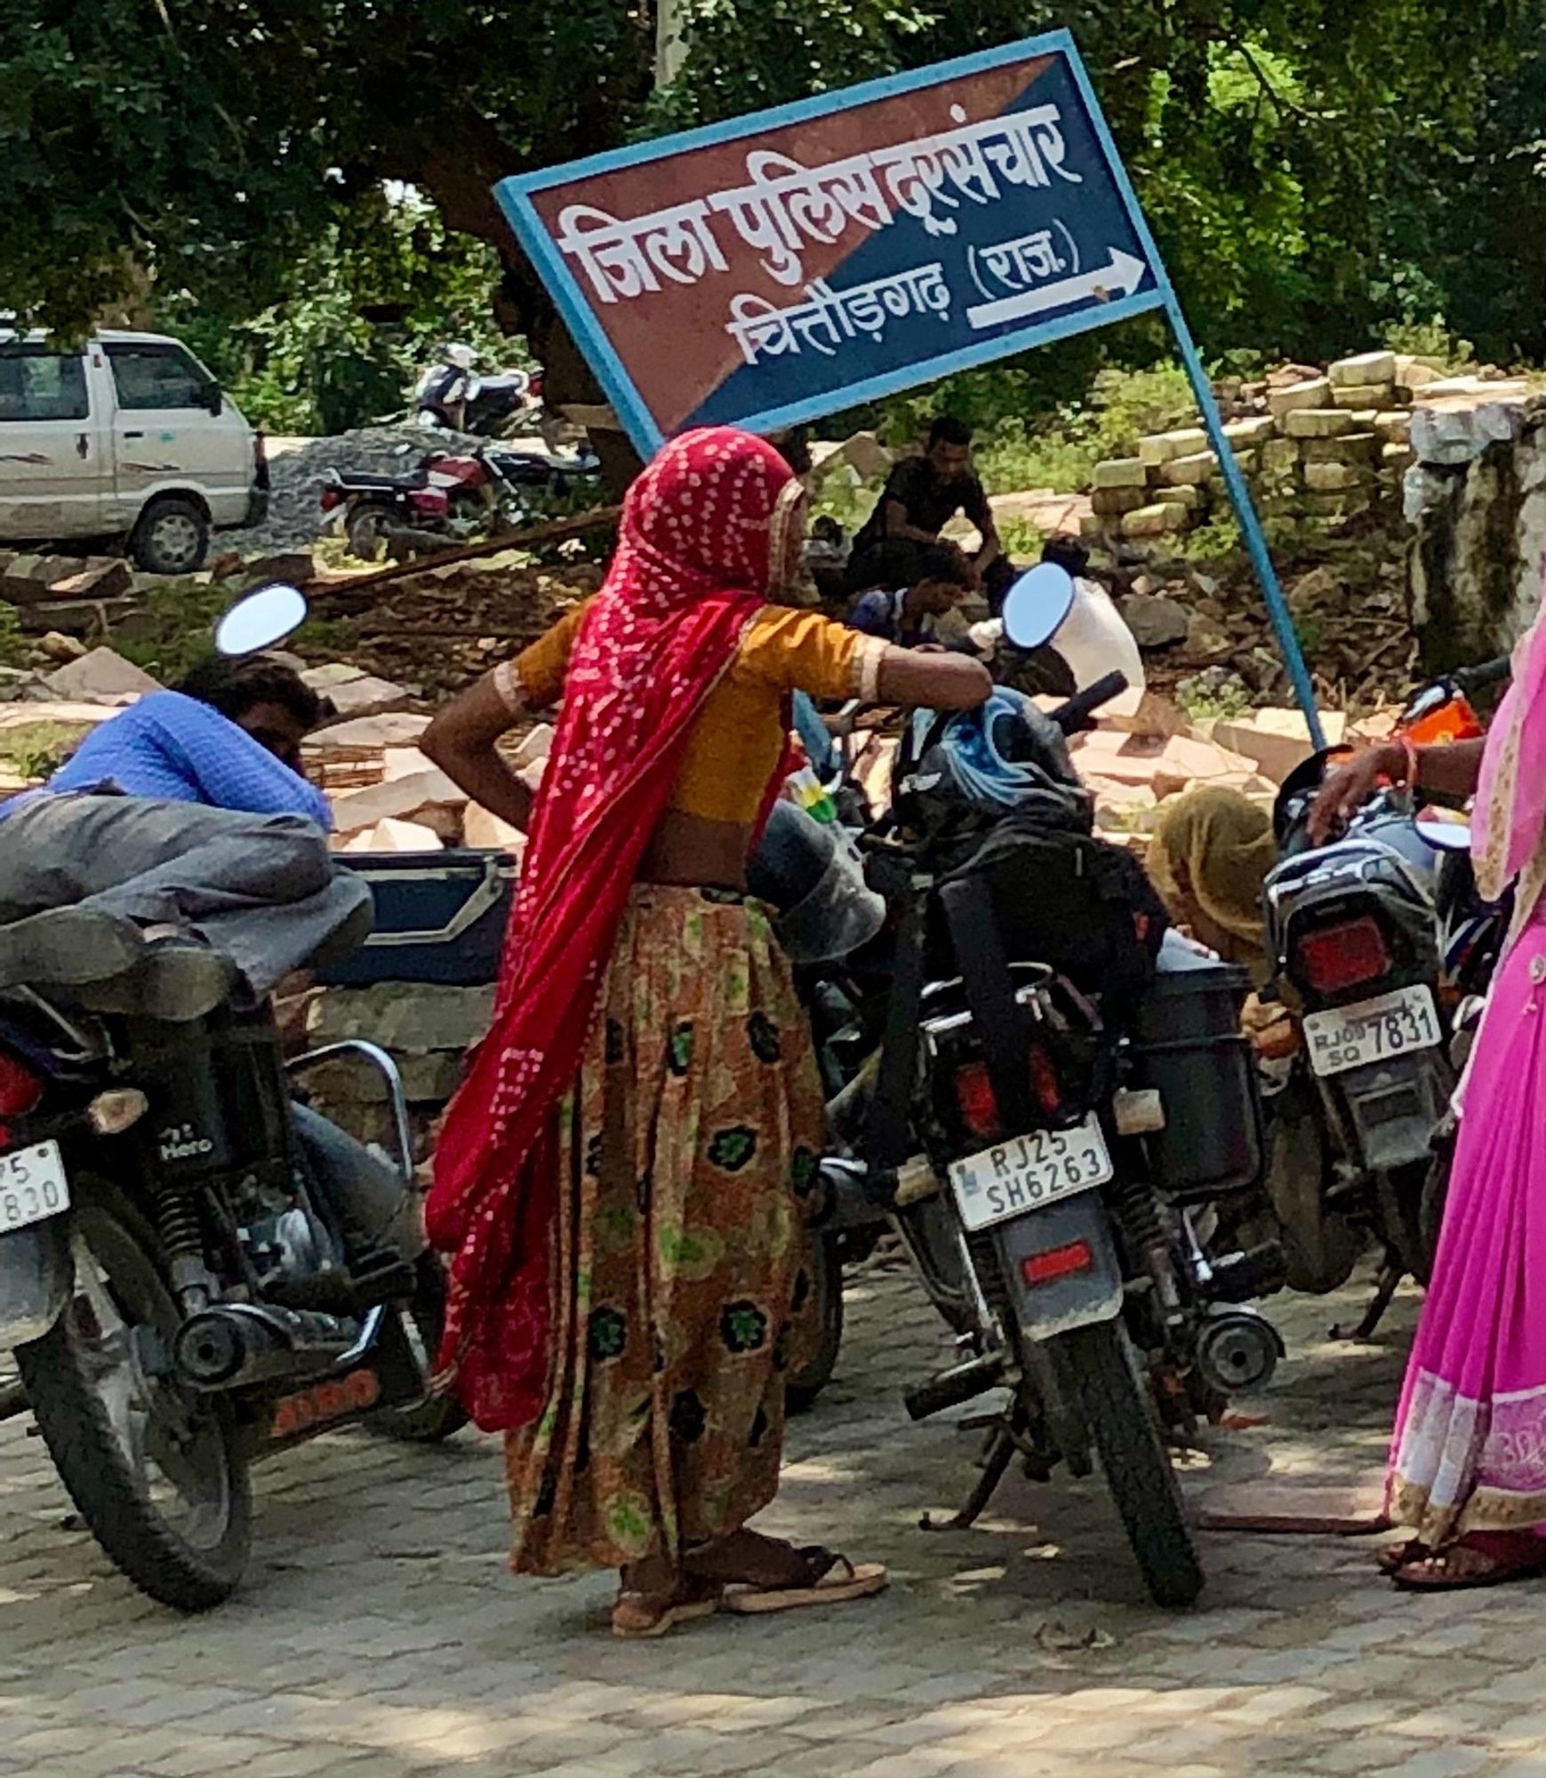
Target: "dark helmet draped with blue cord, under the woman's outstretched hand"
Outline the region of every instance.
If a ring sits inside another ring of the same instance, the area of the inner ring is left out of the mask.
[[[940,825],[947,811],[997,820],[1024,809],[1086,830],[1091,821],[1063,731],[1004,685],[977,709],[917,711],[897,754],[896,791],[904,820],[922,827]]]

